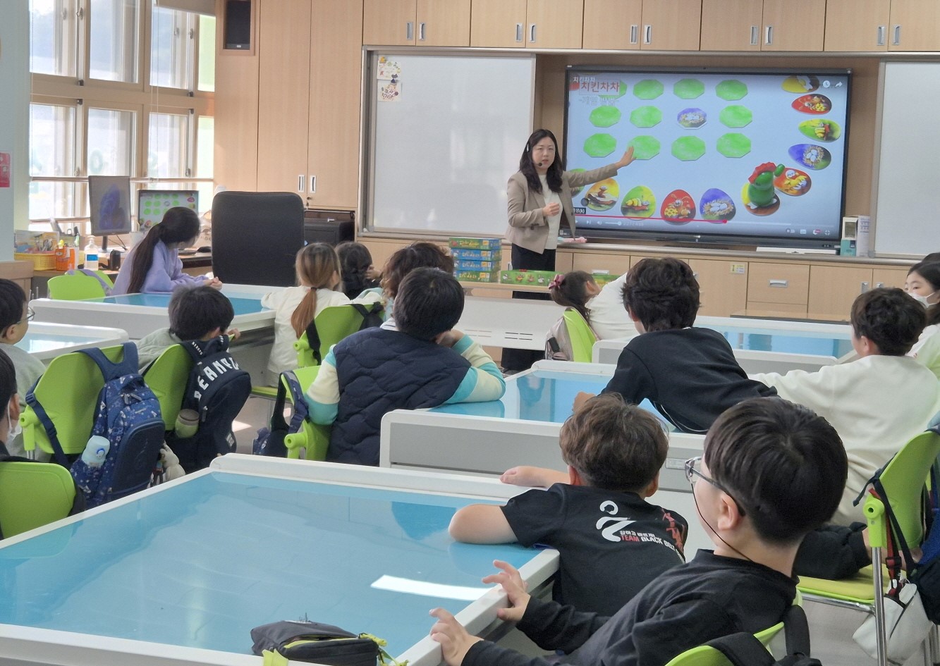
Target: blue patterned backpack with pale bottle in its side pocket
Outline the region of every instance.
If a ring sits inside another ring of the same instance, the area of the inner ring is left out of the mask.
[[[101,435],[111,444],[100,467],[86,465],[81,457],[71,464],[71,475],[88,507],[147,488],[164,443],[160,403],[137,372],[137,348],[133,342],[124,343],[123,348],[119,363],[108,359],[101,349],[79,349],[98,365],[104,377],[89,436]],[[67,464],[58,440],[49,439],[56,460]]]

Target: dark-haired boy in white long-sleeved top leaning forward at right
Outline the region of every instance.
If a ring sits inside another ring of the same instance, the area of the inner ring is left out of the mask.
[[[882,287],[856,297],[850,318],[859,356],[852,363],[751,376],[814,410],[838,431],[849,454],[849,481],[833,519],[839,525],[865,520],[862,503],[853,506],[854,499],[940,410],[936,377],[904,355],[923,331],[923,306],[899,288]]]

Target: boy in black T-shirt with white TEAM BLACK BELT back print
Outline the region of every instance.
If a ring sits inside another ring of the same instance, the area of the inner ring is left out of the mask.
[[[619,395],[597,395],[561,426],[559,444],[567,473],[520,467],[502,477],[551,488],[529,490],[505,506],[464,506],[450,521],[450,535],[466,543],[554,548],[561,560],[552,598],[613,615],[684,561],[685,519],[646,502],[659,487],[666,431]]]

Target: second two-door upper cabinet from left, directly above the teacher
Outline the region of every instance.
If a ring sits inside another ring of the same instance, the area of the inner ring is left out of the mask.
[[[473,0],[470,46],[580,49],[584,0]]]

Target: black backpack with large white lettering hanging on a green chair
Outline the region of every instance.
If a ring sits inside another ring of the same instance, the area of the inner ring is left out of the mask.
[[[193,359],[183,393],[182,410],[196,410],[199,427],[192,437],[166,433],[166,444],[180,458],[182,469],[196,472],[216,456],[235,451],[232,421],[251,393],[251,376],[228,351],[228,336],[181,342]]]

